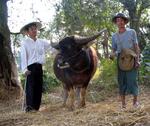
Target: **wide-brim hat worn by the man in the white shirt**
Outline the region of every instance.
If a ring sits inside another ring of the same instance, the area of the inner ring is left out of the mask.
[[[27,32],[27,29],[31,26],[35,25],[37,27],[38,30],[41,29],[42,24],[40,22],[30,22],[26,25],[24,25],[21,29],[20,29],[20,33],[24,34],[25,32]]]

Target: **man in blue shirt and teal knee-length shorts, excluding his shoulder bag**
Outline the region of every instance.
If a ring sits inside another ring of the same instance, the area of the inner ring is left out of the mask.
[[[137,55],[135,66],[124,71],[118,66],[118,83],[119,93],[122,102],[122,108],[126,108],[126,94],[133,95],[133,106],[138,107],[138,84],[137,84],[137,68],[139,67],[139,46],[137,35],[134,29],[126,28],[129,19],[123,13],[118,13],[112,18],[112,22],[118,27],[118,32],[112,35],[112,54],[117,55],[119,59],[123,49],[134,49]]]

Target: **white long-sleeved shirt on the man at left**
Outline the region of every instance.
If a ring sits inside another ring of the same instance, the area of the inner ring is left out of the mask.
[[[27,70],[27,66],[33,63],[45,63],[45,53],[50,50],[51,45],[46,40],[37,39],[34,41],[27,38],[21,43],[21,69],[23,72]]]

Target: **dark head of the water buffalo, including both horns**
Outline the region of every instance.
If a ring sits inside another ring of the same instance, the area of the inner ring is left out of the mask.
[[[76,57],[79,54],[83,53],[84,55],[84,47],[93,44],[93,40],[99,37],[104,31],[106,31],[106,29],[90,37],[81,37],[76,35],[69,36],[62,39],[59,43],[52,43],[52,47],[57,49],[61,55],[58,61],[58,67],[62,69],[69,67],[72,63],[74,63],[73,60],[76,60]]]

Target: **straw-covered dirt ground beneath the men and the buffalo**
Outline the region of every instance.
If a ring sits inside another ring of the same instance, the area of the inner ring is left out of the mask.
[[[90,95],[89,93],[87,95]],[[86,107],[68,111],[61,106],[59,93],[44,95],[39,112],[22,111],[22,99],[0,103],[0,126],[150,126],[150,91],[142,87],[140,107],[132,106],[127,96],[127,108],[120,109],[118,94],[94,103],[87,100]]]

